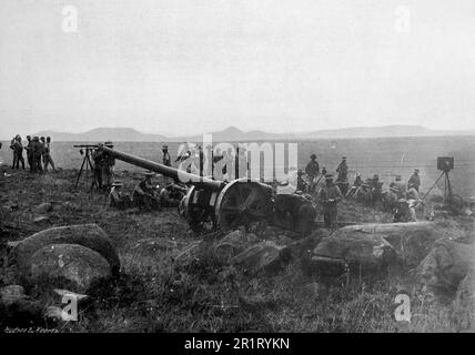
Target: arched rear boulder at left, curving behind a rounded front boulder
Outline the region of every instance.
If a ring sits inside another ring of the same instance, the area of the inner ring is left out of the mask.
[[[59,226],[38,232],[20,241],[10,255],[21,268],[29,265],[32,255],[51,244],[79,244],[101,254],[111,265],[113,274],[120,270],[119,255],[105,232],[97,224]]]

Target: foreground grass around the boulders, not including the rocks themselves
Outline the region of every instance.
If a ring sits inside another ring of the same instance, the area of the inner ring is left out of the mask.
[[[350,155],[350,154],[348,154]],[[77,170],[30,175],[11,172],[1,176],[1,221],[9,225],[0,237],[0,260],[7,241],[29,236],[50,226],[97,223],[111,237],[122,263],[119,280],[98,285],[94,302],[80,310],[80,321],[39,326],[62,332],[456,332],[463,329],[457,310],[444,304],[406,276],[366,278],[347,275],[323,280],[307,275],[299,257],[275,274],[245,275],[203,248],[192,267],[176,268],[178,252],[196,243],[174,210],[139,213],[115,211],[107,196],[73,189]],[[120,172],[125,191],[140,173]],[[51,202],[49,221],[34,223],[34,206]],[[17,205],[18,209],[9,206]],[[352,202],[341,205],[341,221],[388,222],[391,215]],[[441,229],[455,237],[473,237],[473,219],[444,219]],[[285,232],[272,236],[287,243]],[[162,250],[153,242],[174,241]],[[8,267],[0,268],[0,286],[9,284]],[[404,285],[413,300],[413,321],[402,326],[393,318],[394,297]],[[36,290],[29,290],[34,294]],[[0,327],[21,323],[2,318]]]

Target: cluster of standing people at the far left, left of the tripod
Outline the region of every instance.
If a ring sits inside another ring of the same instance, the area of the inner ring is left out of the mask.
[[[31,172],[43,172],[48,171],[48,166],[51,165],[51,169],[54,171],[54,162],[51,158],[51,138],[44,136],[38,138],[34,135],[31,138],[27,135],[27,144],[23,145],[21,135],[17,134],[10,141],[10,149],[13,152],[13,160],[11,163],[11,169],[21,169],[24,170],[24,159],[23,159],[23,149],[27,151],[27,161],[30,166]]]

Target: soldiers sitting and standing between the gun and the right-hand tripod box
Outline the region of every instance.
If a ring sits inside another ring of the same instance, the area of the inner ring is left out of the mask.
[[[346,156],[342,156],[335,170],[337,173],[335,181],[326,168],[320,171],[315,154],[310,158],[305,171],[300,169],[297,172],[297,190],[312,194],[322,204],[326,227],[331,229],[336,224],[337,204],[343,199],[354,199],[371,205],[381,201],[387,211],[394,213],[395,222],[416,220],[415,209],[423,203],[418,195],[421,186],[418,169],[414,170],[407,184],[402,181],[401,175],[396,175],[388,191],[383,191],[383,182],[380,181],[378,174],[363,181],[360,172],[356,172],[350,187]]]

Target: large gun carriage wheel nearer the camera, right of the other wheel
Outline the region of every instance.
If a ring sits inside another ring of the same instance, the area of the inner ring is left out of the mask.
[[[215,220],[222,231],[236,226],[249,227],[252,222],[267,220],[272,215],[272,190],[255,181],[235,180],[218,196]]]

